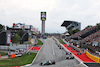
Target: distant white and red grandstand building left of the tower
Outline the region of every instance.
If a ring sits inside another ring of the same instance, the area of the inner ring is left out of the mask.
[[[16,34],[18,31],[23,30],[25,32],[33,32],[35,34],[40,34],[40,31],[38,31],[37,28],[34,28],[32,25],[25,25],[22,23],[13,23],[13,26],[11,28],[8,28],[7,30],[9,30],[13,35]]]

